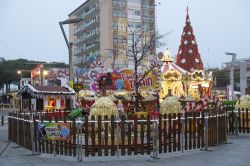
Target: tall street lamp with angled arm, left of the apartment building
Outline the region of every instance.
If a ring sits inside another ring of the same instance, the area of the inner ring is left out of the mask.
[[[79,23],[82,20],[83,20],[83,18],[74,18],[74,19],[67,19],[65,21],[60,21],[59,22],[60,28],[61,28],[62,33],[63,33],[64,40],[65,40],[65,42],[67,44],[67,47],[68,47],[68,50],[69,50],[69,81],[73,80],[73,78],[74,78],[73,77],[73,63],[72,63],[72,47],[73,47],[73,43],[69,42],[69,40],[68,40],[68,38],[66,36],[66,33],[64,31],[63,25]]]

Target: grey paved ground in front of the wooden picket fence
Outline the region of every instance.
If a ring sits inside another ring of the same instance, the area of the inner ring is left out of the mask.
[[[160,159],[150,156],[117,157],[83,157],[82,162],[76,158],[51,155],[36,155],[23,148],[17,148],[15,143],[7,141],[8,126],[0,126],[0,166],[68,166],[68,165],[111,165],[111,166],[249,166],[250,165],[250,134],[229,136],[232,144],[213,147],[212,152],[185,151],[184,153],[167,153],[159,155]]]

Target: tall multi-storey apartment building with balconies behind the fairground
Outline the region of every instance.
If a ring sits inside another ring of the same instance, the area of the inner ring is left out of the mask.
[[[88,68],[96,59],[105,68],[132,68],[126,55],[132,32],[147,27],[155,33],[155,0],[86,0],[69,14],[73,18],[83,18],[69,27],[75,68]]]

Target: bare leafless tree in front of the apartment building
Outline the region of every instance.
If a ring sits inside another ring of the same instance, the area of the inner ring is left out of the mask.
[[[157,61],[156,48],[161,47],[164,43],[161,39],[164,35],[159,35],[154,30],[144,28],[144,30],[134,30],[130,28],[130,37],[132,39],[131,47],[127,49],[127,56],[134,62],[134,88],[135,88],[135,111],[139,109],[139,88],[141,81],[161,63]],[[139,77],[139,71],[143,74]]]

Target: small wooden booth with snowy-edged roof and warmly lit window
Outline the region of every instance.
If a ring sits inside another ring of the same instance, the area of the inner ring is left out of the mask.
[[[20,111],[62,111],[75,105],[75,91],[68,86],[24,85],[19,91]]]

